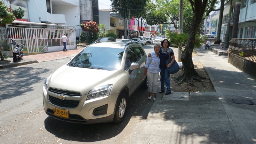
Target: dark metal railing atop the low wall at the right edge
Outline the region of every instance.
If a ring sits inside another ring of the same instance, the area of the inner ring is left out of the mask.
[[[256,39],[231,38],[228,53],[256,64]]]

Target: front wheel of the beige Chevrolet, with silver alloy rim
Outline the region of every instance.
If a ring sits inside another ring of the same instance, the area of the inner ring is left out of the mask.
[[[124,116],[126,114],[126,107],[127,107],[127,97],[125,93],[121,93],[117,103],[116,103],[116,110],[115,116],[113,119],[113,123],[121,123],[124,120]]]

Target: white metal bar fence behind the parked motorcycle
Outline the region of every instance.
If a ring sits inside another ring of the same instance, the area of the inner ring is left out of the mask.
[[[76,30],[51,28],[7,28],[8,37],[22,44],[24,54],[48,52],[49,47],[62,46],[61,37],[66,34],[69,45],[76,44]]]

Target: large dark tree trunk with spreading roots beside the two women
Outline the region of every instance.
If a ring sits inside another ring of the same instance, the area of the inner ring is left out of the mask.
[[[184,66],[184,72],[181,76],[178,76],[176,80],[180,80],[179,84],[187,82],[189,84],[193,83],[193,80],[199,80],[203,78],[199,76],[196,70],[194,69],[194,64],[192,60],[192,52],[194,50],[194,44],[196,39],[196,29],[198,28],[205,11],[207,0],[189,0],[194,9],[194,15],[192,23],[190,26],[188,41],[184,51],[181,54],[181,61]]]

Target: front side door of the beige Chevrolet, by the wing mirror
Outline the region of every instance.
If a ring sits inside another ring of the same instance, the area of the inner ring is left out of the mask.
[[[138,69],[130,70],[130,66],[133,62],[137,62],[137,56],[135,49],[130,46],[126,50],[126,57],[125,57],[125,64],[124,64],[124,70],[126,72],[126,75],[128,76],[128,87],[130,94],[134,92],[137,88],[136,82],[137,75],[138,75]]]

